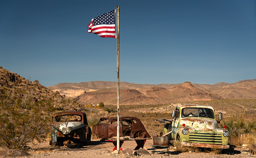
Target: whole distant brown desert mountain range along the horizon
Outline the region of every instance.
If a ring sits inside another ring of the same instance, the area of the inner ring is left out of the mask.
[[[120,105],[171,104],[197,100],[256,99],[256,79],[236,83],[208,84],[134,84],[120,82]],[[84,104],[103,102],[116,105],[116,82],[91,81],[59,83],[49,86],[66,97],[76,98]]]

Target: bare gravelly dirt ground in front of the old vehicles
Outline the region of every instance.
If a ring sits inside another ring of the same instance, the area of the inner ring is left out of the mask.
[[[207,152],[178,152],[175,151],[174,147],[170,147],[169,156],[166,156],[164,153],[152,153],[153,140],[147,140],[144,147],[148,149],[148,152],[151,155],[142,156],[142,157],[152,157],[152,158],[161,158],[161,157],[225,157],[225,158],[240,158],[240,157],[256,157],[250,155],[248,152],[244,152],[244,148],[233,148],[222,150],[220,154],[207,153]],[[48,142],[28,144],[32,149],[29,149],[27,152],[29,156],[23,156],[26,158],[113,158],[113,157],[122,157],[122,158],[139,158],[141,156],[126,155],[123,153],[114,154],[110,152],[113,149],[112,142],[105,142],[101,139],[93,139],[88,146],[83,146],[80,149],[69,149],[66,146],[49,146]],[[137,146],[135,141],[125,141],[122,145],[123,149],[134,149]],[[156,151],[166,151],[166,149],[156,149]],[[1,157],[1,156],[0,156]],[[17,157],[17,156],[16,156]]]

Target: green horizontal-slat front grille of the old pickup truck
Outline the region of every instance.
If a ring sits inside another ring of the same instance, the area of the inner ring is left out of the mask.
[[[190,132],[189,142],[222,145],[222,134]]]

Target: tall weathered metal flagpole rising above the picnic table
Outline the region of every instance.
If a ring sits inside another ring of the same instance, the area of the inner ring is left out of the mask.
[[[116,6],[117,11],[117,140],[116,140],[116,148],[120,151],[120,125],[119,125],[119,6]]]

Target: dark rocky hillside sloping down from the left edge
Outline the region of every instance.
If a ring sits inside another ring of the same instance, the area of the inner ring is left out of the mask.
[[[73,99],[65,98],[58,92],[42,86],[37,80],[31,82],[20,75],[0,67],[0,99],[3,93],[15,95],[21,100],[40,102],[47,100],[57,111],[84,111],[83,106]],[[15,104],[15,103],[13,103]]]

